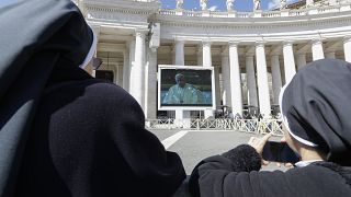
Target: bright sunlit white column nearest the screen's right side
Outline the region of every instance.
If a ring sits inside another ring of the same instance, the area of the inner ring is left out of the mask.
[[[229,63],[230,63],[230,92],[233,115],[242,116],[242,95],[240,66],[238,56],[238,43],[229,42]]]

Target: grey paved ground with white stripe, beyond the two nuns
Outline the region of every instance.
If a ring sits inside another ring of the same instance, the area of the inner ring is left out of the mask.
[[[219,131],[219,130],[151,130],[167,150],[177,152],[184,164],[186,174],[190,175],[193,167],[204,158],[220,154],[234,147],[248,142],[252,134],[240,131]],[[272,138],[271,140],[279,140]],[[264,171],[282,170],[275,163],[263,167]]]

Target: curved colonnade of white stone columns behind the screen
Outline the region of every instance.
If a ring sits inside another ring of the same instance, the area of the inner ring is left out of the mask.
[[[127,43],[128,50],[124,53],[123,68],[123,88],[127,90],[140,104],[146,112],[148,118],[156,118],[157,111],[157,90],[156,90],[156,68],[157,68],[157,48],[145,46],[144,31],[136,31],[135,40]],[[322,58],[336,58],[333,51],[324,53],[324,43],[320,39],[306,40],[310,42],[310,50],[313,60]],[[174,63],[178,66],[185,65],[184,46],[185,39],[174,40]],[[267,57],[270,58],[270,67],[272,74],[272,101],[278,104],[279,93],[283,85],[282,78],[285,83],[292,80],[297,68],[306,65],[306,53],[294,50],[294,42],[287,40],[280,44],[276,50],[270,50],[267,54],[267,45],[269,43],[256,42],[251,45],[254,47],[251,51],[245,51],[240,56],[245,56],[245,67],[247,73],[248,88],[248,105],[258,106],[260,113],[264,116],[271,114],[271,99],[268,81],[268,65]],[[203,67],[212,67],[212,42],[203,40],[199,43],[197,63]],[[272,46],[270,44],[270,46]],[[242,114],[242,92],[241,92],[241,76],[239,65],[239,47],[246,47],[239,42],[228,42],[227,48],[222,53],[222,80],[223,93],[220,100],[224,105],[233,108],[234,114]],[[202,48],[202,49],[201,49]],[[351,37],[343,38],[344,58],[351,62]],[[294,53],[295,51],[295,53]],[[297,51],[297,53],[296,53]],[[280,62],[280,55],[283,56],[283,62]],[[256,59],[254,59],[256,58]],[[296,59],[296,62],[295,62]],[[254,65],[256,60],[256,65]],[[281,63],[283,65],[284,73],[281,72]],[[284,76],[282,76],[284,74]],[[216,83],[218,85],[218,83]],[[219,89],[217,86],[215,89]],[[181,113],[181,112],[178,112]],[[212,111],[205,112],[205,117],[213,116]],[[178,115],[186,118],[189,114]]]

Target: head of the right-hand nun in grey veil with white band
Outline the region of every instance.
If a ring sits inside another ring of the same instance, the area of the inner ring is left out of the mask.
[[[337,59],[308,63],[282,89],[284,136],[302,160],[351,165],[350,90],[351,65]]]

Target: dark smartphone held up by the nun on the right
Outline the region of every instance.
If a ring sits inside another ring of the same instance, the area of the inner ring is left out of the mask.
[[[263,147],[262,159],[281,163],[296,163],[301,161],[299,155],[286,142],[278,141],[267,141]]]

